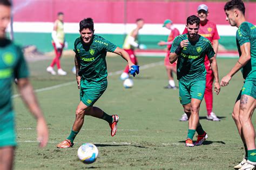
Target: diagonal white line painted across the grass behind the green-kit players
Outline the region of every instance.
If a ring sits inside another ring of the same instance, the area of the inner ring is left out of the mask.
[[[156,62],[156,63],[151,63],[151,64],[146,64],[146,65],[142,65],[140,66],[140,70],[144,70],[144,69],[148,69],[150,67],[154,67],[154,66],[158,66],[158,65],[163,65],[164,62],[161,61],[161,62]],[[116,71],[116,72],[110,72],[108,74],[108,76],[116,76],[118,74],[121,74],[123,72],[123,70],[119,70],[119,71]],[[59,87],[64,87],[64,86],[69,86],[71,84],[74,84],[76,83],[76,81],[69,81],[68,83],[63,83],[63,84],[59,84],[59,85],[55,85],[55,86],[50,86],[50,87],[44,87],[42,89],[36,89],[34,90],[34,92],[43,92],[43,91],[48,91],[48,90],[52,90],[52,89],[58,89]],[[16,98],[16,97],[19,97],[21,96],[20,94],[15,94],[12,96],[12,98]]]

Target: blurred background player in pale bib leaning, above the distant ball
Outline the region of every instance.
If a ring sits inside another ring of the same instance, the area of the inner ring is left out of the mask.
[[[143,28],[144,20],[142,18],[138,18],[136,20],[136,29],[132,30],[129,35],[126,36],[124,40],[123,49],[129,54],[131,62],[134,64],[138,64],[137,57],[134,54],[134,49],[146,49],[146,45],[138,43],[138,34],[139,30]],[[124,72],[121,74],[120,79],[125,80],[129,78],[129,65],[126,65]]]

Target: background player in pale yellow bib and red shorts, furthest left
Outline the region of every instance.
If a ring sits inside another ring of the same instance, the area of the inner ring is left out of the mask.
[[[64,13],[58,12],[58,18],[56,19],[53,31],[51,33],[52,36],[52,46],[55,51],[55,58],[53,58],[51,64],[49,67],[47,67],[46,71],[51,73],[52,75],[56,75],[56,72],[54,71],[53,67],[57,65],[57,73],[59,75],[65,76],[66,72],[62,70],[60,67],[60,57],[62,56],[62,51],[65,46],[65,33],[64,33]]]

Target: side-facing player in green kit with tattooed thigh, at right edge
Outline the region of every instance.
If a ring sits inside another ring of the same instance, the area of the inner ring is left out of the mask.
[[[255,169],[256,149],[255,131],[252,115],[256,98],[256,26],[246,22],[245,5],[240,0],[233,0],[225,4],[226,20],[231,26],[236,26],[237,48],[240,58],[231,71],[221,79],[221,86],[228,82],[240,69],[244,77],[244,86],[238,94],[233,108],[232,117],[244,143],[245,158],[235,166],[235,169]]]

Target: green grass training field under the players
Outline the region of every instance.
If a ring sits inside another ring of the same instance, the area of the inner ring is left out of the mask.
[[[220,78],[236,61],[218,59]],[[15,169],[232,169],[241,161],[244,149],[231,117],[234,100],[242,86],[240,72],[227,87],[221,89],[219,96],[214,95],[214,112],[221,118],[220,122],[206,120],[203,101],[200,122],[208,133],[208,140],[202,146],[187,148],[184,146],[187,123],[178,121],[183,114],[178,90],[163,89],[167,84],[163,58],[139,58],[142,70],[133,79],[134,87],[124,89],[116,73],[123,70],[124,60],[107,57],[111,75],[109,85],[95,106],[106,113],[119,115],[116,136],[111,137],[109,125],[104,120],[85,117],[75,146],[57,149],[56,144],[68,137],[75,120],[79,91],[75,75],[71,73],[72,57],[62,59],[68,76],[46,73],[49,63],[50,60],[30,63],[35,90],[60,85],[56,89],[37,92],[48,121],[49,144],[43,149],[37,147],[36,123],[21,99],[15,97],[18,140]],[[253,122],[256,122],[255,116]],[[99,157],[91,165],[78,161],[77,149],[83,142],[92,142],[99,149]]]

